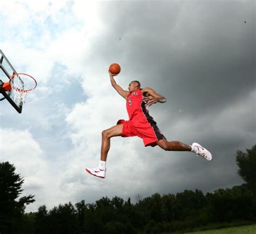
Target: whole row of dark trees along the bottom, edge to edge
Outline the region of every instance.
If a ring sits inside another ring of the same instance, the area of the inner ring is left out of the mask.
[[[156,193],[143,199],[138,196],[134,204],[130,198],[102,197],[95,203],[69,202],[50,210],[42,205],[29,213],[25,207],[35,201],[34,196],[18,199],[24,179],[15,173],[14,165],[2,162],[0,233],[171,233],[210,223],[256,222],[256,145],[246,152],[238,150],[236,161],[246,183],[232,189]]]

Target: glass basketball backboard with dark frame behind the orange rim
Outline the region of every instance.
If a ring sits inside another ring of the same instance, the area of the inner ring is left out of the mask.
[[[3,51],[0,50],[0,101],[8,100],[18,113],[22,112],[22,105],[15,99],[14,91],[5,91],[2,87],[4,82],[9,82],[11,75],[17,73],[10,61],[6,58]],[[21,80],[22,82],[22,80]]]

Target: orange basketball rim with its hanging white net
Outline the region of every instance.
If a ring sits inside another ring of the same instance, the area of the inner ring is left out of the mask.
[[[14,100],[18,105],[25,104],[26,94],[37,86],[36,80],[25,73],[15,73],[10,77],[10,85],[14,93]]]

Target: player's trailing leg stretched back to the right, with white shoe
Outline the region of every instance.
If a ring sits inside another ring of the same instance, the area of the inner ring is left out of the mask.
[[[157,141],[157,145],[162,149],[169,151],[191,151],[204,157],[204,159],[208,161],[212,160],[212,154],[198,143],[193,143],[192,146],[189,146],[188,144],[179,141],[167,141],[166,139],[162,139]]]

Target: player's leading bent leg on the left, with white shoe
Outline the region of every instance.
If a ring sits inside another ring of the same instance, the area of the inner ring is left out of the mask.
[[[96,168],[86,168],[86,171],[94,176],[105,178],[107,153],[110,149],[110,138],[122,136],[123,124],[115,125],[102,131],[102,148],[100,150],[100,161]]]

